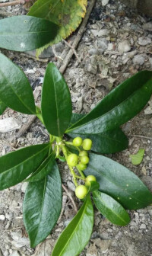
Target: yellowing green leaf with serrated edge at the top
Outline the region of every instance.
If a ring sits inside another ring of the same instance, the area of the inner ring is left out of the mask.
[[[48,46],[59,43],[76,30],[84,18],[86,7],[87,0],[37,0],[28,15],[44,18],[60,27],[55,39],[37,50],[38,55]]]

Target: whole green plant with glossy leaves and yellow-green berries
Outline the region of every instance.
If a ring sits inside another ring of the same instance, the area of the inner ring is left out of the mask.
[[[126,210],[152,203],[150,190],[134,173],[103,156],[127,149],[128,138],[120,126],[149,101],[152,72],[138,72],[128,78],[89,114],[72,113],[68,85],[51,62],[43,81],[41,107],[34,103],[24,72],[2,53],[0,84],[1,114],[6,107],[35,114],[49,135],[45,144],[24,147],[0,158],[0,190],[28,182],[23,215],[32,248],[52,232],[62,210],[60,172],[64,169],[59,170],[60,161],[68,165],[75,185],[74,198],[82,201],[80,210],[56,242],[52,256],[81,253],[92,233],[93,205],[113,224],[126,226],[130,222]]]

